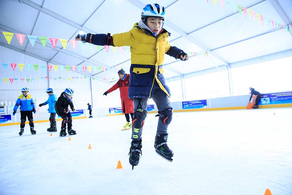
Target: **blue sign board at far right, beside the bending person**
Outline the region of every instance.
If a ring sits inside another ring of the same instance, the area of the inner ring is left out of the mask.
[[[271,94],[262,94],[259,105],[292,103],[292,92],[280,92]]]

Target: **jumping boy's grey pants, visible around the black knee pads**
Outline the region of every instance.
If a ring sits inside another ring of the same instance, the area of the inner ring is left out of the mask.
[[[166,93],[160,89],[158,84],[156,84],[155,86],[152,99],[155,102],[158,111],[163,111],[164,109],[171,107],[169,98],[167,97]],[[138,109],[143,109],[147,113],[147,106],[148,106],[147,101],[148,101],[147,98],[133,98],[134,112],[137,111]],[[156,133],[158,135],[166,134],[167,129],[168,129],[168,125],[165,125],[162,122],[162,120],[158,119]],[[133,141],[139,141],[140,139],[142,139],[142,130],[143,130],[143,127],[141,129],[134,130],[134,127],[132,126],[131,139]]]

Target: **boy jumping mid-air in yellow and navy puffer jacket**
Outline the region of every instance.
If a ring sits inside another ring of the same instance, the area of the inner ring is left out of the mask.
[[[162,28],[166,20],[165,9],[159,4],[147,4],[141,18],[129,32],[120,34],[78,34],[75,40],[95,45],[130,46],[131,68],[129,98],[134,102],[132,142],[129,162],[138,165],[142,148],[142,127],[147,115],[147,100],[152,98],[158,108],[158,125],[154,141],[156,153],[172,161],[173,151],[167,146],[168,125],[172,120],[173,108],[169,97],[170,89],[163,76],[164,54],[176,59],[187,60],[189,56],[168,42],[170,33]]]

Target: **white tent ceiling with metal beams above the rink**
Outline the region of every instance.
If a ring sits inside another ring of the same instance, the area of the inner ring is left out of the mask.
[[[177,80],[178,76],[192,77],[196,73],[222,70],[226,67],[249,65],[251,62],[267,61],[270,58],[292,56],[292,35],[287,25],[292,21],[292,0],[157,0],[166,8],[164,28],[171,33],[169,41],[184,51],[205,52],[209,57],[193,57],[186,62],[166,55],[164,69],[166,78]],[[230,9],[227,2],[230,2]],[[236,3],[234,13],[232,2]],[[80,30],[85,33],[111,34],[127,32],[140,20],[147,0],[0,0],[0,31],[41,37],[74,40]],[[239,13],[238,5],[250,9],[286,27],[285,30],[249,18],[246,11]],[[290,27],[291,30],[291,27]],[[43,47],[39,38],[32,47],[26,37],[22,46],[16,36],[8,44],[3,33],[0,45],[34,56],[55,65],[70,66],[117,66],[130,67],[130,53],[124,48],[114,53],[109,48],[98,51],[86,46],[83,51],[77,45],[75,51],[68,42],[66,49],[60,41],[55,49],[48,40]],[[276,56],[276,57],[275,57]],[[19,60],[4,63],[22,63]],[[86,71],[91,77],[117,77],[117,71]],[[114,81],[116,82],[116,81]]]

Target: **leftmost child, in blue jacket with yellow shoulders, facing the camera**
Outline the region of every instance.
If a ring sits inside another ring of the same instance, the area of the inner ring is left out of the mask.
[[[22,88],[21,89],[22,95],[18,97],[15,106],[13,108],[13,115],[15,115],[18,106],[20,106],[20,132],[19,135],[22,135],[24,132],[25,127],[25,121],[26,117],[29,120],[29,126],[30,126],[30,132],[32,134],[36,134],[36,131],[34,130],[34,120],[32,116],[32,112],[36,113],[36,109],[34,107],[34,100],[32,99],[32,96],[28,94],[29,89],[28,88]]]

